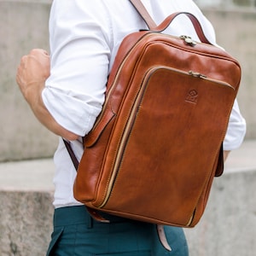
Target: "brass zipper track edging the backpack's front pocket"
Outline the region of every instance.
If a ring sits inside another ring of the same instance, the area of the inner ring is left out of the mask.
[[[170,70],[170,71],[175,72],[175,73],[181,73],[183,75],[193,76],[190,73],[190,71],[189,72],[184,72],[184,71],[176,69],[176,68],[165,67],[165,66],[151,67],[148,70],[148,72],[146,73],[146,75],[145,75],[145,77],[144,77],[144,79],[143,79],[143,81],[142,81],[142,83],[140,85],[140,90],[138,91],[138,94],[137,94],[137,97],[136,97],[136,101],[134,102],[133,107],[131,108],[131,113],[129,114],[129,118],[128,118],[127,124],[125,125],[125,131],[124,131],[124,133],[123,133],[123,135],[121,137],[121,140],[120,140],[120,143],[119,143],[119,148],[117,150],[117,155],[115,157],[115,162],[114,162],[114,166],[113,166],[112,176],[110,177],[110,180],[109,180],[109,183],[108,183],[107,193],[106,193],[105,198],[102,201],[101,205],[99,206],[100,208],[102,208],[102,207],[104,207],[106,205],[106,203],[108,202],[108,199],[109,199],[109,197],[110,197],[110,195],[112,193],[113,184],[114,184],[114,182],[116,180],[116,177],[118,175],[119,166],[120,166],[120,164],[122,162],[122,159],[123,159],[123,155],[124,155],[124,151],[125,151],[125,146],[126,146],[126,143],[128,141],[128,137],[131,134],[131,130],[132,130],[133,124],[134,124],[136,116],[137,116],[138,106],[142,102],[144,92],[145,92],[145,90],[147,88],[147,86],[144,86],[144,85],[147,84],[147,81],[150,78],[150,76],[152,74],[154,74],[157,70],[160,70],[160,69],[166,69],[166,70]],[[226,83],[224,81],[218,80],[218,79],[210,79],[210,78],[207,78],[206,76],[198,76],[197,78],[198,79],[205,79],[205,80],[211,81],[211,82],[213,82],[215,84],[221,84],[221,85],[229,87],[232,90],[235,90],[235,88],[233,86],[231,86],[230,84],[228,84],[228,83]],[[193,216],[194,216],[194,213],[192,214],[191,219],[193,219]]]

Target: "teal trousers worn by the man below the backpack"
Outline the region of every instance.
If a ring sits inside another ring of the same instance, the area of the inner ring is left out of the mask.
[[[165,226],[172,251],[160,243],[156,225],[102,213],[109,224],[90,217],[84,206],[55,209],[47,256],[188,256],[183,229]]]

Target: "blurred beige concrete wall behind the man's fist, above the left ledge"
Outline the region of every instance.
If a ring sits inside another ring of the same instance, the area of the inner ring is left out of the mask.
[[[56,137],[36,120],[15,83],[20,57],[49,49],[50,1],[0,1],[0,161],[48,157]]]

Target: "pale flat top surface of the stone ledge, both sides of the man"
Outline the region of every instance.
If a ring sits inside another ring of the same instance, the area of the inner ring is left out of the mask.
[[[0,190],[50,191],[55,166],[52,159],[0,163]],[[256,171],[256,140],[247,140],[230,153],[224,173]]]

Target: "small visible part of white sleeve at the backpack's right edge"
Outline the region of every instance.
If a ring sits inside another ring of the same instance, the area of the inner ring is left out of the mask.
[[[240,113],[237,101],[230,114],[228,130],[224,138],[224,150],[239,148],[246,134],[246,121]]]

